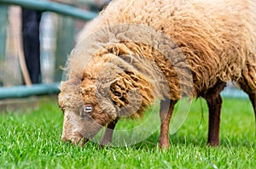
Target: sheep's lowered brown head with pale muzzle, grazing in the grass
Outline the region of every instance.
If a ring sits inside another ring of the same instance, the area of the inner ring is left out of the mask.
[[[94,82],[93,78],[83,77],[79,82],[72,79],[61,83],[59,106],[64,115],[63,141],[83,146],[109,121],[115,119],[114,113],[107,113],[98,104]]]

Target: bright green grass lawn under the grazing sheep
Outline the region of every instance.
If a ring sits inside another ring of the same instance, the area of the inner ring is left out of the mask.
[[[36,110],[0,114],[0,168],[255,168],[255,120],[250,102],[224,99],[221,145],[207,147],[207,106],[194,101],[183,127],[160,151],[159,131],[139,144],[98,149],[61,142],[56,100]],[[203,114],[201,113],[201,107]],[[201,117],[203,115],[203,118]],[[131,122],[131,121],[130,121]]]

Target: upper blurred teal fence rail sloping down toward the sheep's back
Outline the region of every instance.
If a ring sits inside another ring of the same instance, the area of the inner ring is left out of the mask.
[[[39,11],[51,11],[58,14],[65,14],[80,20],[92,20],[97,14],[75,8],[62,3],[53,3],[44,0],[0,0],[0,4],[19,5],[24,8],[32,8]]]

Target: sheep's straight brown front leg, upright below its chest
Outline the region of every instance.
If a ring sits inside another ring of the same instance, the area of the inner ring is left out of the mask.
[[[172,100],[161,100],[160,102],[160,149],[168,149],[170,146],[169,142],[169,124],[172,118],[172,111],[177,101]]]

